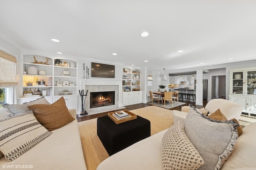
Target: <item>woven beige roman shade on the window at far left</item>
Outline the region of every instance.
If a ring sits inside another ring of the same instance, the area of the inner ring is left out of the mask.
[[[12,87],[18,84],[15,73],[16,57],[0,50],[0,87]]]

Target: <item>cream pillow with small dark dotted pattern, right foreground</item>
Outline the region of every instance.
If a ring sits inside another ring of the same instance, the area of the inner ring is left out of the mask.
[[[164,170],[196,170],[204,164],[204,160],[186,136],[181,120],[164,134],[161,153]]]

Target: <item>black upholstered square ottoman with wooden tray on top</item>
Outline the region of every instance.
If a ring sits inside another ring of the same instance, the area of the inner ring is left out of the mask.
[[[110,156],[150,137],[150,121],[137,115],[137,119],[116,125],[108,116],[99,117],[97,135]]]

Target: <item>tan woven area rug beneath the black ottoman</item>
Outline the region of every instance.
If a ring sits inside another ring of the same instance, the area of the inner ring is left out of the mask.
[[[148,106],[130,111],[150,121],[151,135],[169,128],[174,123],[172,110]],[[96,170],[100,162],[109,157],[97,136],[97,118],[79,122],[78,125],[86,168]]]

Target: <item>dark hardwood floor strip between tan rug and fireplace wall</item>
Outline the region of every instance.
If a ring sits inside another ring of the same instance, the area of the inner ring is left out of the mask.
[[[203,100],[203,106],[196,105],[195,102],[194,103],[193,102],[186,102],[186,101],[182,101],[182,100],[180,102],[186,103],[182,106],[188,106],[188,104],[191,104],[191,105],[193,105],[194,107],[196,107],[198,109],[201,109],[202,107],[205,107],[206,104],[207,104],[207,100]],[[148,106],[152,106],[152,105],[140,103],[140,104],[133,104],[133,105],[128,105],[128,106],[124,106],[124,107],[126,107],[125,108],[126,110],[134,110],[134,109],[139,109],[139,108],[148,107]],[[173,107],[170,110],[179,110],[179,111],[181,111],[182,106]],[[120,110],[123,110],[123,109],[113,110],[113,111],[120,111]],[[76,118],[77,118],[78,122],[80,122],[80,121],[85,121],[85,120],[94,119],[94,118],[97,118],[97,117],[102,117],[102,116],[108,115],[109,112],[110,111],[103,112],[103,113],[92,114],[92,115],[85,115],[85,116],[82,116],[82,117],[78,117],[78,115],[76,115]]]

